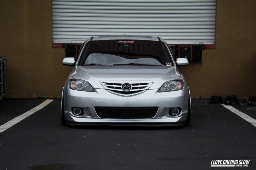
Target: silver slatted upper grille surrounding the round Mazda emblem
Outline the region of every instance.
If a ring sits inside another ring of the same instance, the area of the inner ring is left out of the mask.
[[[108,91],[114,94],[122,96],[131,96],[145,92],[154,81],[116,81],[116,80],[100,80],[101,85]],[[132,89],[129,91],[122,90],[122,84],[129,83],[132,86]]]

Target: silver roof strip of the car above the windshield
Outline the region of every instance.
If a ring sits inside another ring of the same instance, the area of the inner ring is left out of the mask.
[[[138,36],[138,35],[111,35],[111,36],[94,36],[91,41],[97,40],[113,40],[113,39],[122,39],[122,40],[150,40],[150,41],[160,41],[162,38],[155,36]]]

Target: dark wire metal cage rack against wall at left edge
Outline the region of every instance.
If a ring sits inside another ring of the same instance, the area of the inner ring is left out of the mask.
[[[0,101],[6,93],[5,57],[0,56]]]

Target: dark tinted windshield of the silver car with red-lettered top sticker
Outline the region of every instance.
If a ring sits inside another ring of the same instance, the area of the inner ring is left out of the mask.
[[[147,40],[99,40],[87,42],[78,65],[171,66],[164,42]]]

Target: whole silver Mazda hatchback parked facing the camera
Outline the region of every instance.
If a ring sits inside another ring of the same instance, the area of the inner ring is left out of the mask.
[[[75,58],[62,91],[61,122],[67,125],[177,126],[191,120],[188,84],[160,37],[90,37]]]

